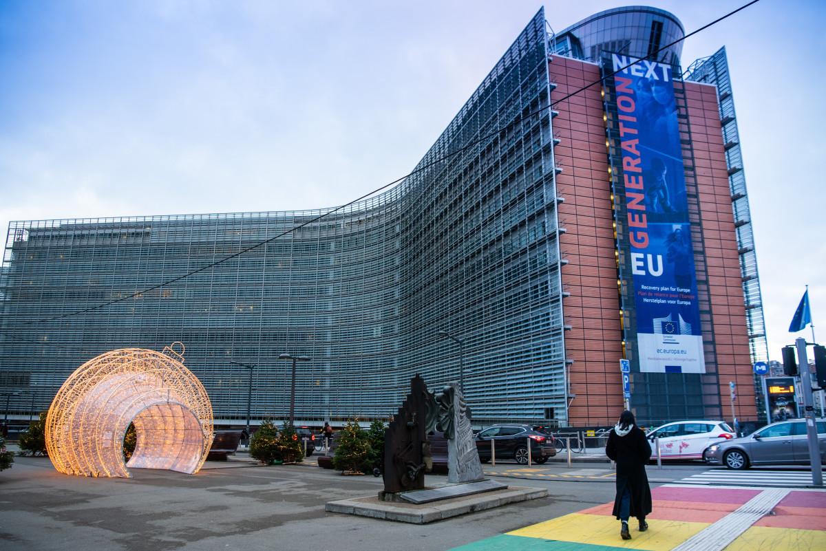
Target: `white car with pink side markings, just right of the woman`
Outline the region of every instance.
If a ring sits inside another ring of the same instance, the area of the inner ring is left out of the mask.
[[[703,459],[703,452],[714,442],[731,440],[737,434],[725,421],[676,421],[657,426],[648,433],[653,455],[654,439],[660,439],[662,459]]]

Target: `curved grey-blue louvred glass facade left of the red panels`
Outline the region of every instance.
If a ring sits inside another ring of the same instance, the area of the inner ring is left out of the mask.
[[[44,410],[87,360],[186,346],[216,422],[387,417],[463,379],[478,422],[564,423],[548,35],[539,11],[410,177],[339,209],[12,222],[0,391]],[[231,361],[244,365],[236,365]]]

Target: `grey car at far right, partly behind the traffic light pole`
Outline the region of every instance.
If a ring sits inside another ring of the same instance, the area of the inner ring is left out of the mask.
[[[826,460],[826,420],[818,419],[820,460]],[[780,421],[764,426],[748,436],[710,445],[703,459],[708,464],[724,464],[729,469],[752,465],[809,464],[809,438],[805,419]]]

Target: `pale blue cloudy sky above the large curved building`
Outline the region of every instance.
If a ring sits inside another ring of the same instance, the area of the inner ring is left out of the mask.
[[[686,33],[747,0],[663,1]],[[529,0],[0,0],[11,220],[342,205],[410,172],[539,10]],[[561,31],[623,2],[548,2]],[[809,285],[826,341],[826,2],[761,0],[725,46],[769,356]]]

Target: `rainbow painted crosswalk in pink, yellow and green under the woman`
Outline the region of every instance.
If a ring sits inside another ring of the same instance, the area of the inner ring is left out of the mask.
[[[762,492],[762,488],[666,485],[652,490],[653,512],[648,516],[649,530],[638,532],[636,521],[631,519],[632,539],[629,540],[619,538],[619,522],[611,516],[613,503],[606,503],[463,545],[454,551],[670,551],[678,547],[712,550],[715,549],[714,541],[711,541],[714,530],[706,529],[729,522]],[[743,527],[744,531],[738,530],[736,539],[725,549],[826,549],[826,491],[790,490],[770,509],[769,514],[748,528]],[[705,534],[709,534],[708,542],[703,540]]]

